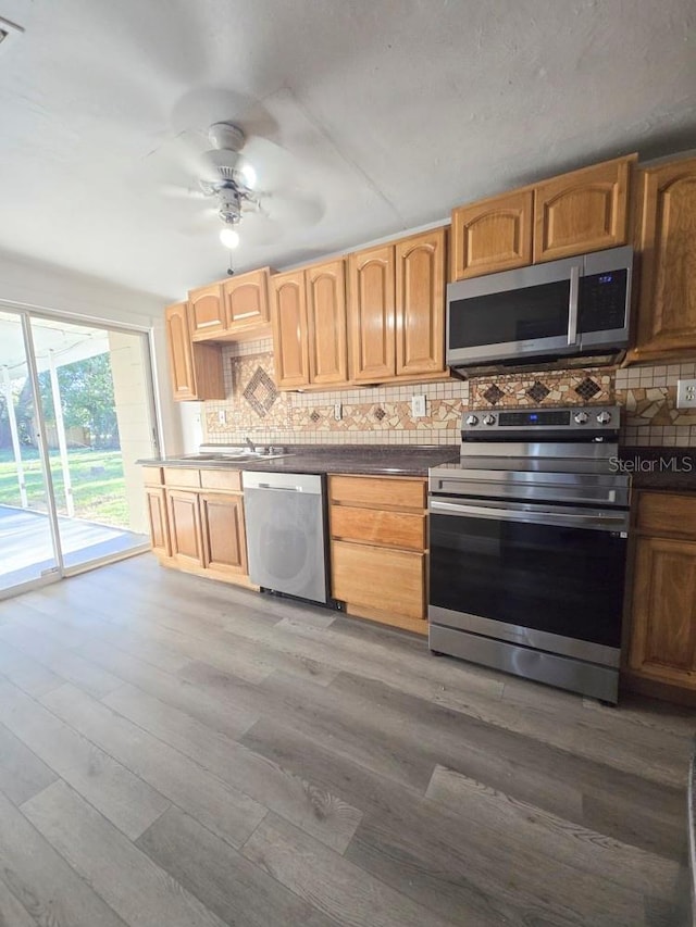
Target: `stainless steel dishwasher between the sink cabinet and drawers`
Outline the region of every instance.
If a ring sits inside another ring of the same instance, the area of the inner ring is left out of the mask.
[[[244,471],[249,578],[264,590],[328,601],[323,478]]]

